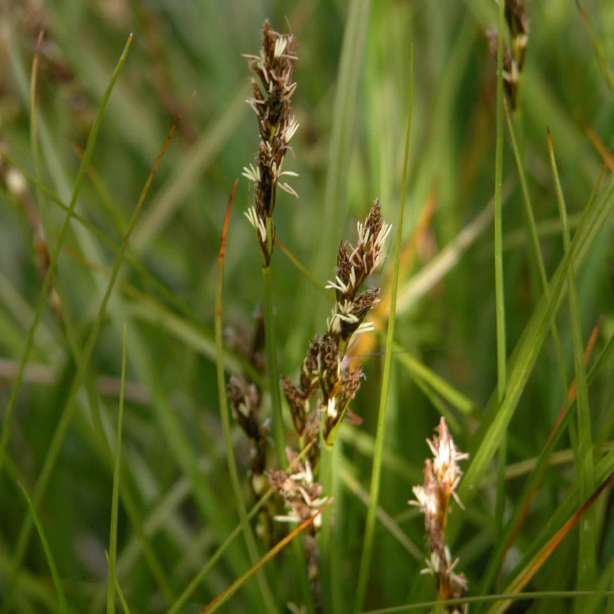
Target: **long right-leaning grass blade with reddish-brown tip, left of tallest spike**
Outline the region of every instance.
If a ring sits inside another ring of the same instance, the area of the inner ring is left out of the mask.
[[[117,279],[117,274],[119,273],[120,266],[122,266],[123,254],[126,250],[126,247],[128,246],[128,241],[130,241],[130,235],[132,233],[134,225],[136,224],[136,220],[139,217],[139,212],[141,211],[142,204],[144,203],[145,197],[149,190],[149,186],[152,182],[153,175],[155,174],[155,171],[158,168],[158,164],[160,163],[160,160],[162,156],[164,155],[166,147],[168,146],[168,143],[171,139],[171,136],[173,136],[173,133],[177,126],[177,122],[179,122],[179,119],[181,119],[181,115],[177,117],[176,122],[171,127],[168,137],[166,138],[166,141],[163,144],[162,149],[160,150],[160,154],[158,155],[158,158],[155,164],[153,165],[153,168],[149,174],[149,177],[147,177],[147,182],[145,184],[145,187],[143,188],[141,192],[141,196],[139,196],[138,203],[136,204],[136,207],[134,208],[132,219],[130,220],[130,225],[128,226],[126,235],[124,236],[119,255],[117,256],[114,262],[114,265],[111,271],[111,278],[109,279],[109,283],[107,284],[107,289],[106,289],[106,292],[104,293],[103,300],[98,310],[98,315],[96,316],[96,320],[91,328],[90,334],[87,338],[87,342],[85,343],[84,351],[81,354],[81,362],[79,363],[79,365],[77,365],[77,373],[73,380],[71,390],[68,394],[66,405],[64,405],[64,410],[62,411],[62,414],[56,426],[55,432],[53,433],[53,438],[49,445],[49,449],[47,450],[47,455],[45,456],[45,461],[42,465],[41,473],[39,475],[38,480],[36,481],[36,486],[34,487],[33,503],[34,503],[35,508],[41,502],[45,489],[47,489],[47,485],[49,484],[49,480],[53,472],[53,468],[55,467],[55,463],[58,459],[58,455],[60,454],[60,449],[64,441],[64,435],[66,435],[66,429],[68,429],[68,426],[71,422],[72,411],[74,409],[74,404],[75,404],[75,400],[77,397],[77,393],[79,392],[79,388],[81,387],[84,381],[85,371],[87,370],[90,356],[91,356],[91,353],[93,352],[94,345],[96,343],[96,338],[98,337],[99,330],[103,323],[104,315],[106,313],[106,306],[107,306],[107,303],[109,302],[109,298],[111,298],[111,292],[115,284],[115,279]],[[87,153],[87,148],[86,148],[86,153]],[[86,157],[84,155],[83,161],[85,160],[86,160]],[[21,561],[25,554],[26,547],[28,545],[31,528],[32,528],[32,518],[31,516],[28,515],[26,516],[25,521],[21,525],[20,534],[17,540],[17,546],[15,548],[14,573],[17,572],[17,569],[19,565],[21,564]],[[7,601],[8,601],[8,598],[7,598]]]

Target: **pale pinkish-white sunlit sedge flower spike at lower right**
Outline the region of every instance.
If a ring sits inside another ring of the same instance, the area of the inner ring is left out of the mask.
[[[437,598],[439,600],[457,599],[467,590],[467,580],[462,573],[456,572],[458,559],[453,559],[446,544],[446,523],[451,499],[462,507],[456,494],[456,487],[461,480],[462,471],[458,462],[468,458],[454,444],[445,419],[441,418],[437,427],[437,435],[427,440],[433,459],[424,462],[424,484],[414,486],[416,497],[410,505],[417,505],[424,514],[424,525],[427,530],[429,558],[426,559],[426,569],[437,580]],[[449,606],[450,614],[464,614],[464,606]]]

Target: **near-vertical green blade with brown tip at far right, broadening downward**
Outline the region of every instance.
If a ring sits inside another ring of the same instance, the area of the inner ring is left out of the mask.
[[[569,234],[569,222],[567,221],[567,209],[559,181],[559,173],[554,160],[554,150],[548,130],[548,153],[550,165],[556,188],[556,200],[559,203],[559,215],[561,216],[563,246],[565,255],[569,254],[571,238]],[[567,291],[569,297],[569,313],[572,324],[573,343],[573,367],[576,376],[576,397],[578,408],[578,461],[577,467],[578,485],[580,487],[580,499],[588,499],[594,490],[593,470],[593,438],[591,436],[591,412],[588,405],[588,386],[586,385],[586,370],[583,359],[582,327],[580,311],[578,309],[578,294],[575,285],[575,272],[573,266],[567,270]],[[596,529],[594,513],[588,511],[583,527],[580,530],[580,544],[578,552],[578,590],[592,588],[596,576]]]

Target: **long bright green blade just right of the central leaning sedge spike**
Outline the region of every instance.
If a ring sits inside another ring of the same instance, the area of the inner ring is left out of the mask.
[[[354,612],[360,612],[367,595],[371,555],[373,554],[373,534],[375,531],[375,513],[379,500],[379,483],[381,478],[382,454],[384,450],[384,437],[386,430],[386,413],[388,408],[388,387],[391,379],[392,340],[394,338],[394,324],[397,313],[398,266],[403,236],[403,213],[405,212],[405,191],[407,188],[408,161],[410,156],[411,136],[411,103],[414,87],[413,47],[410,48],[410,93],[407,107],[407,132],[405,135],[405,157],[403,158],[403,181],[401,182],[401,198],[398,208],[397,240],[394,249],[394,271],[392,273],[392,286],[390,297],[390,317],[386,333],[386,352],[384,354],[384,372],[381,380],[381,396],[379,397],[378,427],[375,436],[375,454],[371,466],[371,487],[369,491],[369,506],[367,508],[367,524],[360,557],[358,584],[356,586],[356,603]]]

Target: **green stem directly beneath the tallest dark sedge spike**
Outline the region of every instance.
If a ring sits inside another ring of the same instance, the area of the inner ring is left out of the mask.
[[[275,345],[275,321],[273,319],[273,292],[271,289],[271,267],[262,267],[262,290],[265,311],[266,369],[269,376],[271,393],[271,413],[273,414],[273,435],[280,467],[287,467],[286,430],[281,415],[281,395],[279,394],[279,371]]]

